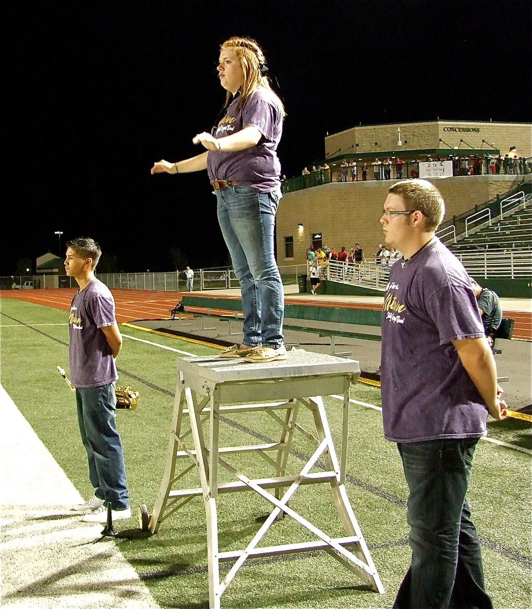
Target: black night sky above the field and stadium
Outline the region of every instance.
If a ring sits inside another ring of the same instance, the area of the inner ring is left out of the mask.
[[[117,270],[172,270],[171,248],[194,269],[228,263],[207,172],[150,169],[202,152],[232,35],[277,80],[291,177],[359,123],[530,122],[531,15],[530,0],[4,2],[0,275],[76,236]]]

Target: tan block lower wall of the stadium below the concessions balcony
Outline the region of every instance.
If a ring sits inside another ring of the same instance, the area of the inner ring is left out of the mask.
[[[444,220],[519,185],[512,175],[469,175],[430,180],[445,200]],[[312,234],[321,233],[324,245],[349,251],[360,243],[372,259],[383,242],[380,216],[386,191],[395,180],[339,182],[314,186],[283,196],[277,211],[277,262],[279,266],[303,264]],[[297,225],[303,224],[302,230]],[[285,237],[293,237],[294,257],[285,256]]]

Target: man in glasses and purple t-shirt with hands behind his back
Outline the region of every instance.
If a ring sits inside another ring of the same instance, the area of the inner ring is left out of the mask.
[[[444,201],[430,182],[388,189],[380,222],[403,252],[382,313],[385,437],[397,443],[408,496],[411,567],[397,608],[491,608],[466,491],[488,413],[505,418],[495,361],[466,270],[434,236]]]

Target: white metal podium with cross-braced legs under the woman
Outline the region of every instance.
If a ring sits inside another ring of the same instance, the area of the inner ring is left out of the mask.
[[[220,607],[225,588],[247,558],[317,549],[327,551],[372,590],[384,593],[344,487],[349,386],[360,373],[358,362],[293,350],[288,352],[285,361],[268,364],[247,364],[241,359],[210,356],[188,357],[177,360],[177,369],[176,400],[165,473],[152,515],[147,513],[146,506],[141,506],[141,527],[156,533],[165,518],[194,497],[203,497],[207,518],[209,606]],[[333,393],[344,396],[339,461],[321,397]],[[261,403],[257,403],[258,400]],[[315,426],[313,431],[307,431],[297,423],[300,407],[311,411]],[[252,415],[258,412],[265,412],[278,424],[278,441],[255,445],[219,445],[219,428],[224,425],[224,415],[246,413],[246,425],[249,426]],[[288,474],[294,432],[301,432],[313,440],[316,449],[299,473]],[[194,448],[190,446],[191,439]],[[229,462],[235,454],[258,454],[263,457],[267,468],[265,477],[250,479],[236,469]],[[325,471],[315,467],[320,458],[325,462]],[[183,467],[176,472],[178,462]],[[198,470],[200,486],[179,488],[179,481],[194,468]],[[232,481],[219,481],[221,468],[231,474]],[[297,513],[289,506],[289,500],[300,485],[320,483],[326,483],[332,492],[333,505],[346,530],[346,537],[330,537],[310,523],[303,513]],[[216,501],[221,493],[239,491],[255,491],[273,509],[247,547],[241,551],[220,552]],[[258,547],[275,520],[283,515],[296,519],[313,533],[316,540]],[[222,580],[219,574],[221,561],[234,562]]]

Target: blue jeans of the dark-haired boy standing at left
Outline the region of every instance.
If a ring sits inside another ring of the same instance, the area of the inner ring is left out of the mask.
[[[115,383],[76,389],[77,420],[94,495],[113,510],[129,507],[126,466],[116,431]]]

